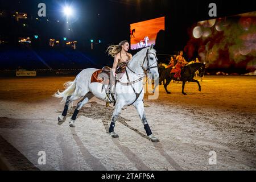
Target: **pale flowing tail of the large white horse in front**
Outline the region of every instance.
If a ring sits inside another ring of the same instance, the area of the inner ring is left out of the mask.
[[[65,82],[64,87],[65,90],[63,92],[60,92],[60,90],[58,90],[55,94],[53,94],[53,97],[62,98],[62,100],[60,101],[61,104],[63,104],[67,100],[68,96],[71,96],[75,92],[76,80]]]

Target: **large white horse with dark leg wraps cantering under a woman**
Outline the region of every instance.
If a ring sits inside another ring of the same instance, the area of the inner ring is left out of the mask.
[[[127,67],[125,68],[125,75],[123,75],[121,80],[117,81],[112,86],[112,88],[115,90],[112,100],[110,97],[107,97],[105,92],[105,89],[108,85],[103,85],[100,82],[91,83],[91,76],[98,69],[88,68],[82,70],[79,75],[76,76],[74,81],[67,82],[65,84],[66,89],[63,92],[59,92],[58,90],[57,93],[53,95],[57,98],[63,98],[62,101],[65,102],[63,113],[58,117],[59,124],[65,121],[69,104],[79,98],[82,98],[81,101],[79,101],[77,104],[76,109],[71,117],[71,121],[69,122],[70,127],[75,127],[74,123],[79,110],[92,97],[95,96],[96,98],[104,101],[116,101],[114,113],[112,115],[112,121],[109,126],[109,133],[113,138],[118,137],[118,135],[114,132],[114,126],[122,107],[133,105],[138,111],[139,117],[141,118],[141,121],[144,125],[144,129],[146,130],[148,139],[150,139],[152,142],[159,142],[159,140],[154,135],[152,135],[150,126],[148,125],[144,113],[143,104],[143,78],[146,77],[148,73],[151,73],[152,79],[158,79],[159,74],[157,64],[156,51],[153,46],[150,48],[144,48],[139,51],[127,64]],[[104,87],[105,89],[103,89]]]

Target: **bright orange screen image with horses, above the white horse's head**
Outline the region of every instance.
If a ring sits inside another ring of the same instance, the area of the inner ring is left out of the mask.
[[[156,35],[160,30],[164,30],[164,17],[131,24],[131,49],[155,44]]]

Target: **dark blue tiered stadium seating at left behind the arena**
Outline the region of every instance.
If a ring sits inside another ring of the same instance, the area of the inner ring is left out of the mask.
[[[71,48],[31,48],[20,44],[16,47],[0,45],[0,69],[84,69],[96,67],[85,53]]]

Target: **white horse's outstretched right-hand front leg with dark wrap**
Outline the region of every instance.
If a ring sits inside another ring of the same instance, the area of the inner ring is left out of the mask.
[[[146,115],[144,113],[144,103],[143,101],[137,101],[133,104],[133,106],[137,109],[139,117],[141,118],[141,121],[144,125],[144,129],[146,130],[148,138],[152,142],[159,142],[159,139],[156,138],[153,134],[152,131],[150,130],[150,126],[147,123]]]

